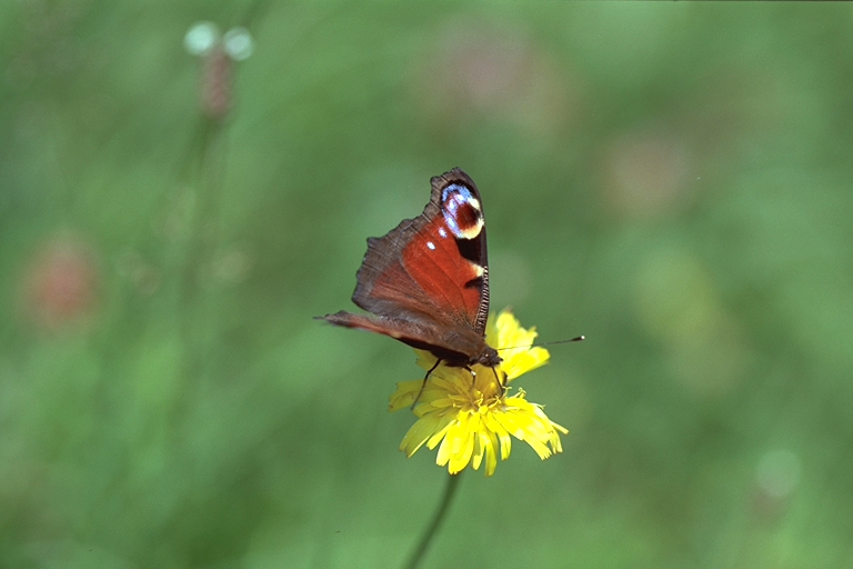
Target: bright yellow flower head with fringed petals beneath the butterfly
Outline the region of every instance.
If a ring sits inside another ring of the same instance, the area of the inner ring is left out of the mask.
[[[548,350],[531,348],[535,337],[535,329],[521,328],[508,310],[490,320],[485,339],[492,347],[504,348],[503,361],[493,370],[474,365],[474,377],[443,362],[435,368],[414,408],[418,421],[405,433],[400,450],[411,457],[424,445],[432,450],[441,443],[435,459],[440,467],[446,465],[455,475],[469,462],[476,470],[485,460],[485,476],[494,473],[499,452],[501,460],[510,457],[511,437],[533,447],[542,460],[561,452],[559,433],[569,431],[552,422],[541,406],[528,401],[523,389],[510,396],[509,388],[498,385],[498,378],[506,385],[548,361]],[[415,352],[423,369],[435,363],[430,352]],[[398,383],[390,409],[411,407],[422,386],[421,379]]]

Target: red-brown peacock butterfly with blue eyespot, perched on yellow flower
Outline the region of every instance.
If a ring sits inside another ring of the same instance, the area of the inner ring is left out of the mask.
[[[435,366],[494,369],[501,357],[485,343],[489,261],[480,192],[459,168],[430,182],[423,213],[368,239],[352,301],[371,313],[318,318],[428,350]]]

